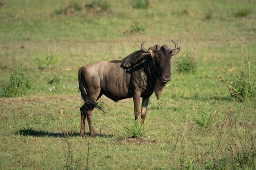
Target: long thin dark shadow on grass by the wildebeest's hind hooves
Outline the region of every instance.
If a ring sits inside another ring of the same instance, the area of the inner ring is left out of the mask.
[[[33,130],[33,129],[20,129],[17,133],[17,135],[22,135],[22,136],[37,136],[37,137],[55,137],[55,138],[64,138],[67,136],[80,136],[80,133],[73,133],[73,132],[65,132],[65,133],[51,133],[51,132],[45,132],[42,130]],[[98,137],[102,138],[111,138],[113,137],[113,134],[110,135],[104,135],[104,134],[95,134]],[[85,136],[90,136],[90,133],[85,133]]]

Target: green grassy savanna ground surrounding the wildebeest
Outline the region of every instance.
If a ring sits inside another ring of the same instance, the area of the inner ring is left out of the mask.
[[[0,0],[0,169],[256,168],[255,0],[137,6]],[[122,59],[143,41],[173,48],[170,40],[181,50],[161,99],[151,96],[145,136],[119,133],[134,122],[132,99],[103,96],[106,113],[93,111],[96,139],[81,138],[78,69]],[[194,71],[178,71],[183,57]],[[240,85],[243,99],[221,78]]]

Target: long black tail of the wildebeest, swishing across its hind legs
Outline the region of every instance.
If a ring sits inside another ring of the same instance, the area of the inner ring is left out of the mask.
[[[79,91],[81,92],[81,97],[84,100],[84,106],[86,110],[96,108],[105,113],[105,111],[94,101],[94,99],[86,94],[81,74],[82,74],[82,69],[80,68],[78,71]]]

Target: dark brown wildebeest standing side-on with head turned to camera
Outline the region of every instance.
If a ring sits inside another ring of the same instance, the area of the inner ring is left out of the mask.
[[[180,51],[176,42],[173,49],[167,45],[154,45],[148,50],[145,50],[144,43],[141,44],[141,50],[124,59],[94,62],[79,69],[79,90],[84,99],[84,105],[80,108],[81,136],[84,136],[84,120],[87,117],[90,136],[95,137],[92,112],[93,108],[102,110],[96,103],[102,94],[115,102],[132,97],[135,120],[140,115],[142,97],[141,119],[144,123],[149,97],[155,92],[159,98],[166,82],[172,78],[171,57]]]

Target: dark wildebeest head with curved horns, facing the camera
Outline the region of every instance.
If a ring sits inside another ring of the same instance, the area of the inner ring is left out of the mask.
[[[171,81],[171,57],[180,51],[177,43],[175,41],[172,42],[175,44],[175,48],[173,49],[169,48],[167,45],[163,45],[162,47],[154,45],[154,47],[145,50],[143,46],[145,42],[141,44],[141,50],[143,52],[149,52],[151,57],[156,61],[159,69],[159,79],[163,83]]]

